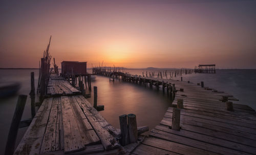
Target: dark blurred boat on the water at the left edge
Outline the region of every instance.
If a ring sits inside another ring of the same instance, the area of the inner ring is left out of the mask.
[[[20,88],[19,82],[8,82],[0,84],[0,98],[8,97],[14,95],[18,92]]]

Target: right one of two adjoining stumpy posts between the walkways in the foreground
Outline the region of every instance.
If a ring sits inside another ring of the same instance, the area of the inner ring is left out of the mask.
[[[128,114],[129,140],[130,143],[135,143],[138,140],[138,130],[136,115]]]

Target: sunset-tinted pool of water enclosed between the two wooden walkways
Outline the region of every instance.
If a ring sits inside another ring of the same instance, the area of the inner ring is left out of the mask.
[[[167,95],[149,86],[121,80],[109,82],[109,78],[103,76],[97,76],[92,86],[98,87],[98,105],[105,106],[100,114],[116,128],[119,128],[119,116],[130,113],[137,116],[138,126],[153,128],[170,105]],[[93,93],[88,100],[93,104]]]

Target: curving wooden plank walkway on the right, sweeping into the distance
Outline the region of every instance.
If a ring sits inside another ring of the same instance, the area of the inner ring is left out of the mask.
[[[140,80],[157,81],[148,77]],[[173,107],[169,107],[160,124],[131,154],[256,154],[256,113],[251,107],[233,104],[234,110],[230,112],[220,100],[222,96],[237,100],[231,95],[184,81],[159,80],[163,84],[175,83],[176,90],[184,89],[176,93],[173,102],[175,107],[178,98],[184,101],[181,129],[170,128]]]

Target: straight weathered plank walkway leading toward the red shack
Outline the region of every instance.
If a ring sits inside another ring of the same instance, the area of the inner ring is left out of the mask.
[[[76,88],[51,76],[48,97],[14,154],[118,154],[119,132]]]

